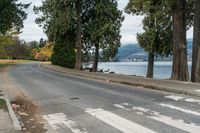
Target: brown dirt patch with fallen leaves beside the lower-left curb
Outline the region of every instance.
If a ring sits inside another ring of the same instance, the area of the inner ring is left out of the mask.
[[[40,108],[32,100],[18,96],[11,104],[20,121],[22,133],[45,133],[47,131],[44,129],[45,122],[40,115]]]

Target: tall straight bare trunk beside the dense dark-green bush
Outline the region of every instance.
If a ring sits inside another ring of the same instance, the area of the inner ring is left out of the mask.
[[[81,44],[81,0],[76,0],[76,13],[77,13],[77,44],[76,44],[76,64],[75,69],[81,70],[82,63],[82,44]]]

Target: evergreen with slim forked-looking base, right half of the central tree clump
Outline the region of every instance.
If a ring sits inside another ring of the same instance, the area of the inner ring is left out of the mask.
[[[87,32],[90,43],[95,47],[92,71],[98,68],[99,50],[104,54],[113,49],[113,53],[107,54],[114,57],[120,46],[120,27],[123,21],[122,12],[118,10],[117,0],[95,0],[88,21]]]

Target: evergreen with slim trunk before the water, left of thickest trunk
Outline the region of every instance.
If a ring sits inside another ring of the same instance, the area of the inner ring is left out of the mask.
[[[161,6],[162,5],[162,6]],[[137,34],[139,45],[148,52],[147,77],[153,78],[154,58],[156,55],[168,56],[172,51],[171,15],[161,0],[130,0],[126,12],[144,15],[144,33]]]

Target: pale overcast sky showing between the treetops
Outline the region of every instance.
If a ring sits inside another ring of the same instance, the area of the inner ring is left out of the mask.
[[[26,10],[28,13],[28,18],[24,22],[23,33],[20,34],[20,39],[25,41],[39,41],[40,38],[46,38],[43,29],[35,24],[36,15],[33,12],[33,6],[41,5],[42,0],[19,0],[23,3],[32,2],[29,9]],[[123,10],[128,0],[119,0],[119,9]],[[142,16],[132,16],[125,14],[125,20],[121,28],[121,43],[124,44],[134,44],[137,43],[136,34],[142,33]],[[188,31],[188,38],[192,38],[192,29]]]

